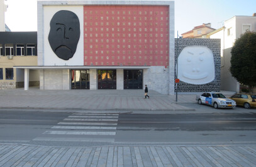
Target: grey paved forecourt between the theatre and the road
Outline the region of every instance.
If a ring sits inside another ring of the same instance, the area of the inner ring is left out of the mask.
[[[0,108],[114,111],[194,111],[181,104],[196,103],[196,94],[164,95],[156,91],[144,98],[143,90],[39,90],[0,91]]]

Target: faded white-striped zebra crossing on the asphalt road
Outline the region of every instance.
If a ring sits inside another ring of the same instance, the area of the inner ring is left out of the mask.
[[[72,113],[33,140],[114,142],[118,117],[119,113]]]

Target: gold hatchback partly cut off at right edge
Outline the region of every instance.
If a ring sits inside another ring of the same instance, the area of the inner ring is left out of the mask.
[[[238,106],[243,106],[244,108],[256,108],[256,95],[251,94],[235,94],[230,97],[236,101]]]

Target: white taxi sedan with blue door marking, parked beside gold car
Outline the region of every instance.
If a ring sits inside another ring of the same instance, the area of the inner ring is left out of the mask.
[[[208,104],[214,108],[235,108],[236,102],[232,99],[226,98],[221,93],[205,92],[196,96],[198,104]]]

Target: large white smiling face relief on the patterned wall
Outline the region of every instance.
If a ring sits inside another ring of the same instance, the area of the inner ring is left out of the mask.
[[[178,78],[190,84],[206,84],[215,76],[212,51],[206,46],[187,46],[178,58]]]

